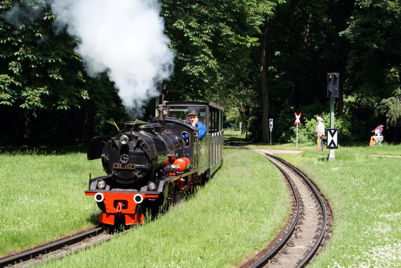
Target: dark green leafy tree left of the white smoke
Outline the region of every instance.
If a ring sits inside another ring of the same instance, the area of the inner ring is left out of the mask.
[[[61,134],[61,139],[75,139],[68,137],[75,132],[70,129],[80,129],[83,132],[80,136],[85,133],[89,136],[93,125],[85,125],[91,129],[77,128],[77,120],[72,116],[65,117],[70,118],[69,123],[50,118],[55,119],[59,111],[70,111],[78,118],[89,114],[94,118],[97,109],[109,105],[109,100],[116,95],[112,84],[105,77],[86,76],[82,59],[75,51],[78,40],[66,31],[54,31],[54,15],[45,1],[3,1],[0,10],[0,109],[10,115],[13,141],[22,144],[34,138],[30,136],[36,127],[31,125],[33,120],[45,124],[40,126],[42,132]],[[39,113],[47,120],[33,119]],[[55,129],[66,131],[52,132],[54,129],[50,129],[48,122],[52,122]],[[70,127],[65,129],[67,126]],[[46,136],[39,132],[38,129],[36,135]]]

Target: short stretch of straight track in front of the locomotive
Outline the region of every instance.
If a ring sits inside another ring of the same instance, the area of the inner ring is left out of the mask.
[[[120,232],[119,232],[120,233]],[[119,234],[118,233],[118,234]],[[86,249],[89,246],[99,244],[111,239],[112,232],[106,232],[105,228],[90,228],[73,235],[56,239],[46,244],[35,246],[0,258],[0,267],[29,267],[47,260],[54,260],[65,255]]]

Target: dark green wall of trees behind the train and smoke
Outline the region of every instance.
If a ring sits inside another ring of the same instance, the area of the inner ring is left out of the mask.
[[[90,139],[95,129],[109,130],[104,118],[118,114],[123,120],[121,100],[106,75],[86,76],[75,50],[79,40],[54,31],[46,3],[0,3],[0,112],[13,126],[0,135],[46,136],[43,125],[67,118],[53,123],[51,133]],[[386,140],[401,141],[400,1],[159,3],[176,53],[165,100],[218,102],[227,118],[241,118],[245,126],[250,119],[250,136],[264,142],[268,118],[274,118],[273,141],[292,141],[294,112],[302,112],[308,126],[300,132],[311,141],[306,132],[315,116],[329,110],[326,74],[339,72],[342,141],[364,141],[384,122],[385,133],[391,132]]]

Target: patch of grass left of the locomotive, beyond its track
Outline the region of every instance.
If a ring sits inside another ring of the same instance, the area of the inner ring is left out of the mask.
[[[0,154],[0,255],[93,225],[97,206],[84,196],[99,162],[80,152]]]

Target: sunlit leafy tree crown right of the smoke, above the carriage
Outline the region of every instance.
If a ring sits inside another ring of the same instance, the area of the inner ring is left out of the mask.
[[[273,3],[259,2],[161,1],[166,33],[176,52],[167,94],[204,99],[215,90],[227,93],[239,81],[248,81],[250,55],[259,45],[256,35]]]

